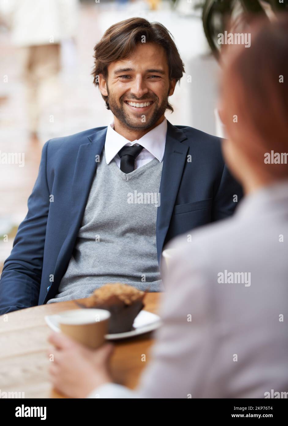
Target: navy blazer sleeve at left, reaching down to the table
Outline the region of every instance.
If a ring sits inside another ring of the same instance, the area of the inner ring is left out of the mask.
[[[37,180],[28,199],[28,213],[18,227],[0,279],[0,315],[38,305],[49,210],[46,177],[47,141]]]

